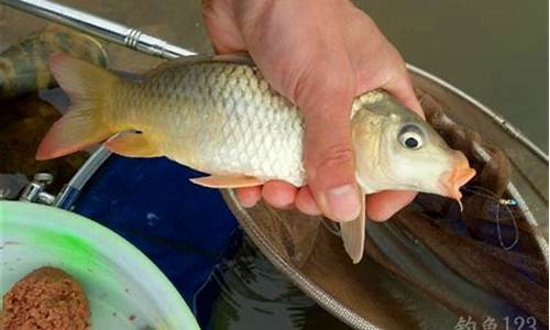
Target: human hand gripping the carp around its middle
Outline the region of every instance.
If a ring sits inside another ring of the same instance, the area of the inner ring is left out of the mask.
[[[424,117],[405,63],[374,22],[342,0],[204,1],[207,31],[218,53],[246,51],[267,81],[304,114],[308,185],[283,182],[241,188],[244,207],[262,197],[336,221],[359,216],[350,111],[353,98],[382,88]],[[386,220],[409,204],[413,191],[369,196],[372,220]]]

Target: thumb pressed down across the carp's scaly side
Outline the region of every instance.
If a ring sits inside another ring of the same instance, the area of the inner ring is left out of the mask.
[[[295,97],[306,124],[304,160],[309,188],[327,217],[350,221],[361,211],[350,129],[354,80],[333,77],[333,73],[330,78],[304,80]]]

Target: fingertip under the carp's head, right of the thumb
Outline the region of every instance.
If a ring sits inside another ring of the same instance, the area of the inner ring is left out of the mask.
[[[366,198],[366,213],[369,219],[385,221],[415,199],[415,191],[386,190],[369,195]]]

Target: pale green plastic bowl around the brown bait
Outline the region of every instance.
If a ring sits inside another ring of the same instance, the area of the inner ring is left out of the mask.
[[[53,207],[0,201],[0,289],[50,265],[82,285],[91,328],[199,329],[164,274],[136,248],[87,218]]]

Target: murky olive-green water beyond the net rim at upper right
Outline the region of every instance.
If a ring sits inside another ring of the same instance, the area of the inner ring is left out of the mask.
[[[548,1],[366,0],[405,59],[548,148]]]

